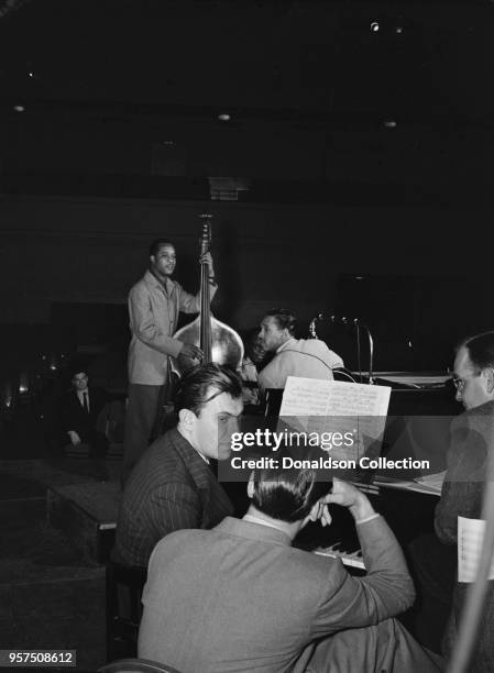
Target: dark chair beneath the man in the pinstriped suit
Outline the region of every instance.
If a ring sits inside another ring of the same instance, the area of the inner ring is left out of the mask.
[[[145,567],[107,565],[107,661],[138,653]]]

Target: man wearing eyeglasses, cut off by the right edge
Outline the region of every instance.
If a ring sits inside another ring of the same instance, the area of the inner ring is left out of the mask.
[[[411,545],[411,565],[422,607],[415,617],[415,636],[437,650],[432,637],[449,611],[442,638],[448,657],[457,640],[464,594],[469,584],[455,581],[458,517],[480,519],[490,456],[494,454],[494,331],[465,339],[457,347],[453,384],[465,411],[451,423],[448,468],[436,507],[435,529],[440,543],[430,538]],[[492,583],[491,583],[492,584]],[[494,593],[490,588],[483,626],[469,672],[494,671]]]

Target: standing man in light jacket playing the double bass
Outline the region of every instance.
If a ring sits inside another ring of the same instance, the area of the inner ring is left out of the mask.
[[[200,257],[209,266],[210,297],[217,284],[210,253]],[[178,313],[197,313],[200,294],[186,293],[172,279],[175,246],[157,239],[150,246],[150,268],[129,293],[131,343],[129,346],[129,404],[123,440],[122,485],[147,446],[158,412],[160,393],[168,385],[169,356],[202,360],[202,351],[174,339]]]

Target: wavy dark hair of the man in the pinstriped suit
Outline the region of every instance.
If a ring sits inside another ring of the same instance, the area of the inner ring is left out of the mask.
[[[211,394],[211,388],[216,393]],[[242,380],[232,368],[211,362],[197,365],[184,374],[175,397],[175,411],[190,409],[196,416],[213,397],[228,393],[242,397]]]

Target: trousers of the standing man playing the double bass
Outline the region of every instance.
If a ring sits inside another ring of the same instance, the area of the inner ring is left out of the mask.
[[[123,466],[121,482],[124,486],[135,463],[153,439],[163,386],[129,384],[129,402],[125,410],[123,437]]]

